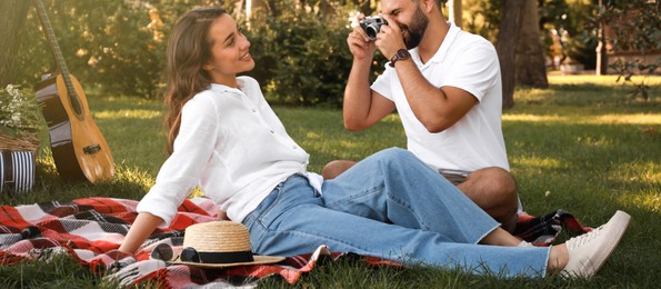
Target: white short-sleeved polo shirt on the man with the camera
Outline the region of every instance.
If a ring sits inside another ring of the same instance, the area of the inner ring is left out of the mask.
[[[452,127],[431,133],[409,107],[397,71],[387,64],[371,88],[395,103],[408,149],[434,169],[474,171],[500,167],[509,170],[501,130],[500,64],[493,46],[451,23],[439,51],[427,63],[421,62],[417,48],[410,52],[432,86],[463,89],[479,102]]]

